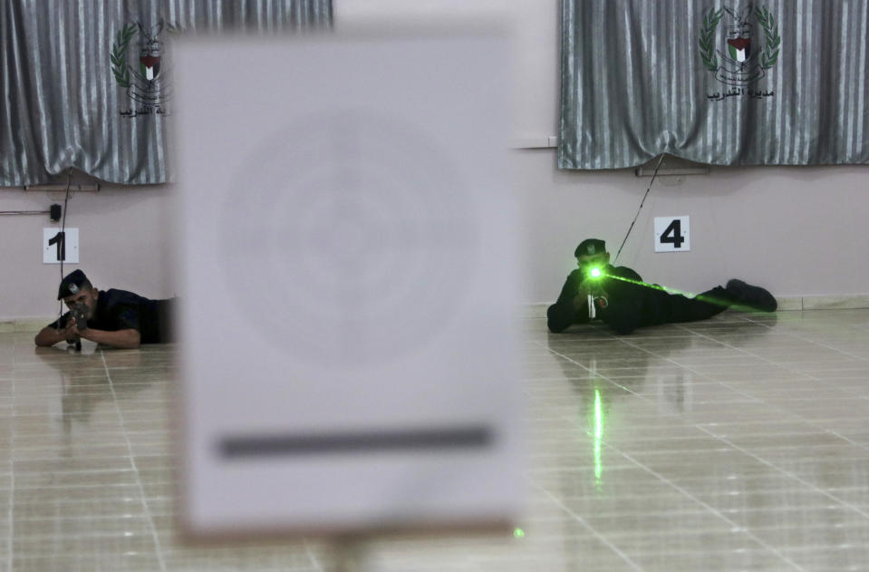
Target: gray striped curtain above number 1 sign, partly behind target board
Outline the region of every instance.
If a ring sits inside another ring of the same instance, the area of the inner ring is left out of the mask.
[[[0,186],[171,179],[169,41],[332,24],[332,0],[0,1]]]

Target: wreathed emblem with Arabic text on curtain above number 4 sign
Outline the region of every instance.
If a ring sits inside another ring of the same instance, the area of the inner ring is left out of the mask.
[[[719,23],[725,15],[727,19],[719,32]],[[762,45],[758,45],[761,43],[755,38],[758,32],[762,32]],[[728,6],[719,10],[711,8],[703,18],[700,30],[700,58],[716,80],[735,88],[723,95],[720,92],[710,95],[710,99],[722,100],[733,95],[752,98],[775,95],[750,88],[776,65],[780,44],[776,19],[766,7],[749,4],[740,11]]]

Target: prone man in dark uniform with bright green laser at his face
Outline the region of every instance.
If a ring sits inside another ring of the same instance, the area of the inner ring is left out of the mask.
[[[777,308],[776,298],[767,290],[736,279],[724,288],[716,286],[693,298],[669,294],[661,286],[643,283],[631,268],[610,265],[610,255],[598,238],[581,242],[574,255],[578,268],[567,276],[561,295],[546,311],[549,330],[556,334],[595,318],[611,326],[616,334],[630,334],[642,325],[703,320],[730,305],[762,312],[775,312]],[[589,296],[594,305],[591,311]]]

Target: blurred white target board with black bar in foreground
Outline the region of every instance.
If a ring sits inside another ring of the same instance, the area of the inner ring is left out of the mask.
[[[508,522],[507,40],[176,45],[193,534]]]

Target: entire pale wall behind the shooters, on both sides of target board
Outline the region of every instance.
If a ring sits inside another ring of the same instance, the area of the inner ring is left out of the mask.
[[[430,25],[500,18],[516,36],[516,141],[555,135],[559,0],[336,0],[336,28],[356,23]],[[396,24],[399,23],[399,24]],[[402,24],[403,23],[403,24]],[[607,241],[613,257],[649,178],[632,170],[555,169],[555,150],[517,150],[515,177],[526,205],[528,302],[552,301],[583,238]],[[777,296],[869,294],[869,167],[712,168],[681,185],[655,183],[619,264],[647,280],[691,292],[742,277]],[[82,264],[98,287],[143,296],[174,293],[170,189],[80,193],[67,224],[81,228]],[[0,189],[0,210],[47,209],[44,193]],[[497,208],[497,205],[493,205]],[[655,254],[652,217],[689,215],[691,251]],[[52,315],[59,279],[43,265],[48,217],[0,217],[0,317]],[[509,256],[509,253],[493,253]],[[72,267],[70,267],[72,269]]]

